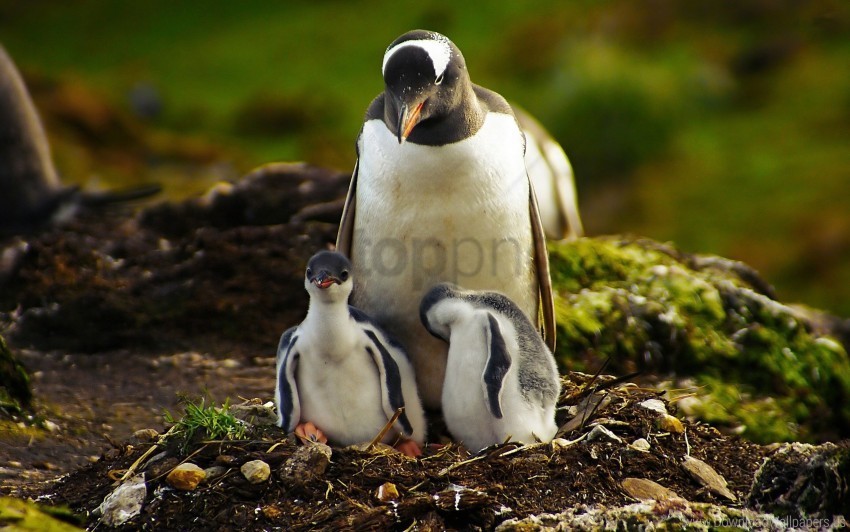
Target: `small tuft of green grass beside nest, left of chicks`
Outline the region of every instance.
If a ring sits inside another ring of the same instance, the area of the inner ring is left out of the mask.
[[[230,399],[226,399],[221,407],[206,406],[204,397],[193,401],[184,396],[180,402],[183,404],[183,417],[176,419],[166,410],[165,421],[173,425],[168,442],[178,442],[181,452],[199,439],[239,440],[245,437],[245,424],[230,412]]]

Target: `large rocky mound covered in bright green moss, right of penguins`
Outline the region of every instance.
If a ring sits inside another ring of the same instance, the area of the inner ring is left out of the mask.
[[[616,237],[553,243],[550,257],[563,369],[610,358],[672,375],[696,393],[684,413],[755,441],[850,434],[845,347],[746,265]]]

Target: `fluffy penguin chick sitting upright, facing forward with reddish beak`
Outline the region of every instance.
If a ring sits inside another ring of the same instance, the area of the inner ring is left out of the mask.
[[[287,431],[338,445],[371,441],[403,408],[384,443],[421,454],[425,413],[404,349],[348,305],[351,263],[320,251],[307,264],[307,316],[283,333],[275,403]]]

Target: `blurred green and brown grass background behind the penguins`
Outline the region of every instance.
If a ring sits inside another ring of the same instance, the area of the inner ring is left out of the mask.
[[[557,136],[589,232],[742,260],[783,300],[850,316],[841,0],[0,0],[0,42],[28,77],[76,80],[128,114],[147,84],[162,112],[134,120],[173,135],[154,146],[202,139],[235,173],[292,159],[351,168],[383,51],[417,27],[449,35],[474,80]],[[50,133],[69,180],[120,179],[108,158],[76,163],[85,147]],[[219,176],[146,173],[186,181],[173,194]]]

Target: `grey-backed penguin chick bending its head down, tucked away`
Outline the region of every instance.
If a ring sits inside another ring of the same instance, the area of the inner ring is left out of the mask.
[[[441,283],[422,298],[419,316],[449,343],[442,406],[457,440],[477,451],[555,436],[555,358],[513,301]]]

